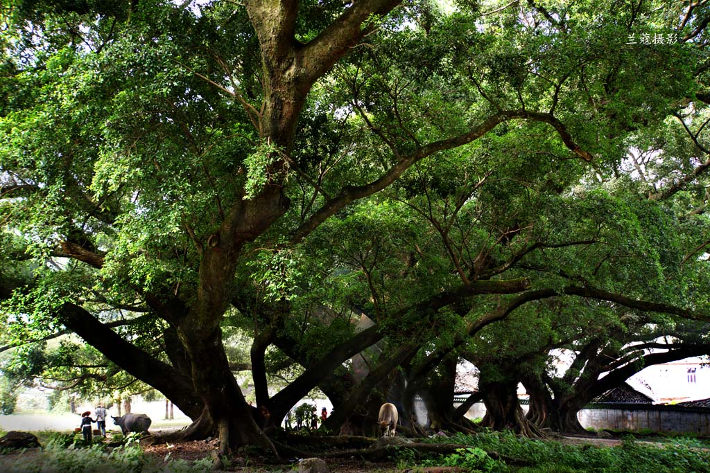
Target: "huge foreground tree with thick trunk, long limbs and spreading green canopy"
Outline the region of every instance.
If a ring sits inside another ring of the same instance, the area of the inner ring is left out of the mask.
[[[236,328],[271,422],[343,423],[535,301],[706,319],[704,2],[4,5],[4,343],[76,333],[185,435],[271,448]]]

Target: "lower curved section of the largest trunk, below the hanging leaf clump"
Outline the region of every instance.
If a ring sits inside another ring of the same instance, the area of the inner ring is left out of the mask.
[[[283,189],[268,184],[253,199],[236,201],[202,253],[197,299],[178,321],[178,335],[190,359],[192,383],[213,428],[229,436],[229,445],[259,445],[274,452],[231,373],[220,323],[229,307],[234,274],[244,243],[253,240],[283,214]]]

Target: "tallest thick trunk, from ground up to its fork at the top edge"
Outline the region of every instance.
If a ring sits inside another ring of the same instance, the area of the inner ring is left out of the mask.
[[[258,238],[288,209],[280,184],[288,169],[288,155],[310,87],[370,31],[371,27],[363,27],[362,23],[372,13],[386,14],[398,3],[359,1],[346,9],[331,28],[301,47],[294,35],[298,2],[246,1],[263,65],[263,108],[261,112],[253,111],[252,118],[262,142],[275,145],[278,151],[268,169],[271,182],[251,199],[236,199],[222,225],[208,238],[200,262],[197,300],[177,321],[180,341],[190,359],[195,392],[204,402],[213,428],[219,426],[222,450],[226,450],[227,436],[232,446],[256,443],[273,450],[251,416],[222,345],[219,323],[229,303],[241,248]],[[263,390],[261,374],[257,374],[260,400],[266,402],[268,394]],[[352,408],[357,404],[361,402],[354,402]],[[280,421],[286,411],[274,417]]]

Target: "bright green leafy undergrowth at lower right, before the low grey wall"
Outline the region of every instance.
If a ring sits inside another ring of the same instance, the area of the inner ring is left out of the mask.
[[[618,447],[596,447],[488,431],[456,435],[448,441],[470,447],[425,460],[424,466],[464,467],[470,472],[486,473],[710,473],[710,452],[694,439],[678,438],[664,445],[652,445],[626,438]],[[493,460],[486,452],[516,461],[506,464]]]

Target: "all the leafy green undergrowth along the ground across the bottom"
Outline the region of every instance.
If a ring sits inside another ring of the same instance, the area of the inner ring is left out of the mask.
[[[305,437],[305,436],[304,436]],[[331,438],[335,439],[335,438]],[[70,442],[71,435],[55,435],[40,449],[31,449],[21,454],[0,455],[0,472],[47,472],[47,473],[197,473],[209,472],[212,464],[208,450],[213,446],[204,444],[204,457],[195,461],[179,458],[180,445],[173,449],[146,452],[131,439],[120,447],[109,448],[106,444],[82,447]],[[282,440],[287,440],[283,438]],[[293,443],[293,438],[288,439]],[[323,438],[300,438],[301,447],[315,447],[316,440]],[[519,438],[509,432],[486,431],[478,435],[455,435],[449,438],[432,438],[432,443],[456,443],[465,445],[449,455],[422,455],[405,445],[395,447],[394,464],[371,463],[367,460],[328,460],[333,472],[381,472],[401,473],[425,471],[426,467],[459,467],[468,472],[484,473],[710,473],[710,452],[695,439],[674,439],[664,445],[640,443],[627,438],[617,447],[594,445],[564,445],[557,441]],[[292,444],[293,445],[293,444]],[[349,445],[352,446],[352,445]],[[327,445],[324,450],[337,450],[343,445]],[[148,450],[155,447],[148,447]],[[504,460],[496,460],[500,456]],[[497,455],[496,455],[497,454]],[[246,460],[246,459],[244,459]],[[288,471],[288,465],[265,464],[258,457],[237,464],[225,464],[226,469],[239,472]]]

